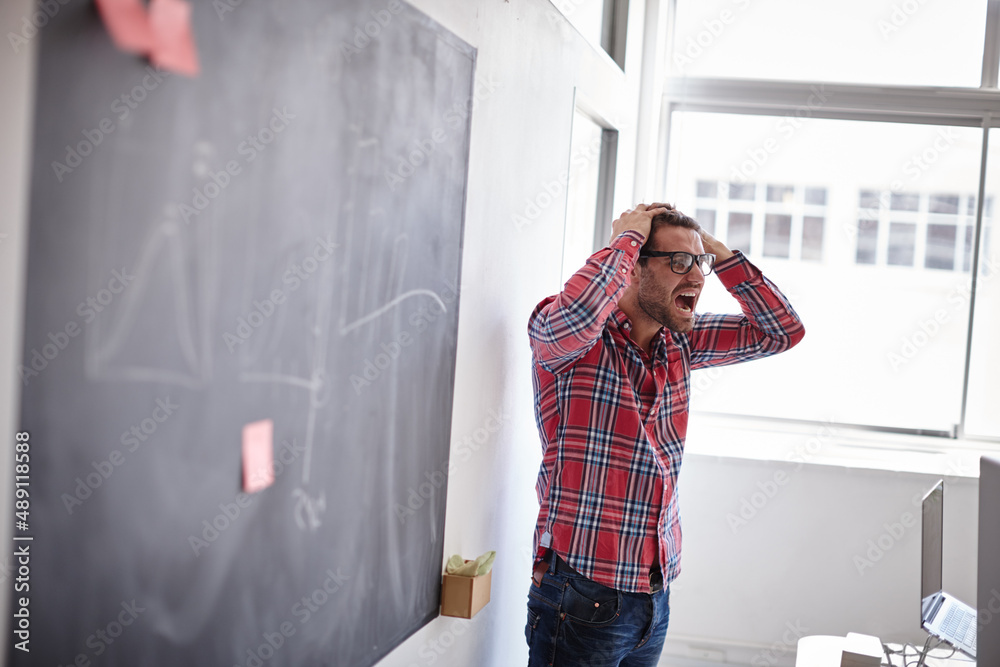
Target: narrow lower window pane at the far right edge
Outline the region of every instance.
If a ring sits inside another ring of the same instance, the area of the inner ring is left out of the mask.
[[[996,130],[990,134],[993,136],[986,158],[987,209],[992,209],[993,198],[1000,195],[1000,148],[996,146]],[[1000,341],[1000,248],[993,244],[997,233],[1000,233],[997,222],[984,212],[965,422],[966,433],[994,438],[1000,437],[1000,344],[997,343]],[[966,238],[971,245],[972,235]]]

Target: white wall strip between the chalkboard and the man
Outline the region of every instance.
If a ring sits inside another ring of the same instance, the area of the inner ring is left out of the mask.
[[[541,460],[527,320],[561,288],[565,195],[546,205],[545,185],[567,168],[576,86],[620,131],[614,210],[631,206],[644,7],[631,3],[626,76],[549,2],[413,4],[477,47],[479,78],[499,84],[472,116],[453,451],[485,427],[491,410],[502,411],[504,423],[468,461],[456,458],[445,523],[445,557],[496,549],[497,561],[492,600],[474,619],[438,618],[379,664],[511,667],[527,663]],[[529,202],[540,215],[526,215]]]

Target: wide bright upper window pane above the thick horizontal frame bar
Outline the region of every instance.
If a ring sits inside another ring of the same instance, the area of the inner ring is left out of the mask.
[[[978,87],[986,0],[677,0],[674,76]]]

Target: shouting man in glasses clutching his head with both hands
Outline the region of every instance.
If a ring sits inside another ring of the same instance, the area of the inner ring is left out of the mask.
[[[612,230],[528,325],[543,450],[529,667],[657,664],[680,572],[691,371],[805,333],[742,253],[672,206],[639,204]],[[695,314],[713,268],[743,315]]]

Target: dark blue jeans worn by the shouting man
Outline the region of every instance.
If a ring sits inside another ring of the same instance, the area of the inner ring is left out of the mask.
[[[625,593],[564,568],[528,592],[528,667],[655,667],[670,620],[670,587]]]

